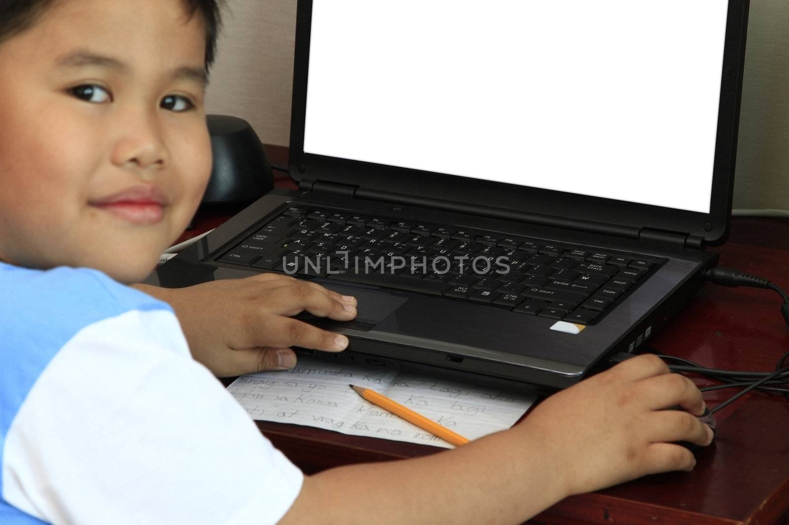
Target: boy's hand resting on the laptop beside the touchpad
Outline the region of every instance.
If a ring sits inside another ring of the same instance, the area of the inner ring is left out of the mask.
[[[182,289],[135,285],[170,303],[194,359],[219,377],[296,365],[291,346],[340,352],[345,336],[290,316],[302,311],[338,321],[356,317],[356,300],[280,274],[211,281]]]

